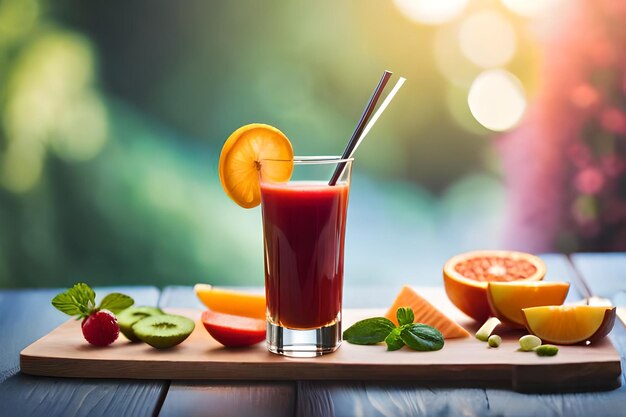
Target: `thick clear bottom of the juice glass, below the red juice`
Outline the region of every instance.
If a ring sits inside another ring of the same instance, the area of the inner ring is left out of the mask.
[[[294,330],[267,323],[267,349],[292,358],[333,353],[341,345],[341,321],[318,329]]]

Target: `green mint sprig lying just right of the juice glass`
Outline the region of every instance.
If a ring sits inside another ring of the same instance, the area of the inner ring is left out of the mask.
[[[387,344],[387,350],[398,350],[407,345],[422,352],[443,348],[441,332],[426,324],[414,323],[413,310],[400,307],[396,311],[398,326],[385,317],[373,317],[361,320],[343,332],[343,339],[357,345],[373,345],[380,342]]]

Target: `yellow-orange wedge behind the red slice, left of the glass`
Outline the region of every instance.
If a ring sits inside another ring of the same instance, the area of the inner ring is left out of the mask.
[[[193,287],[202,304],[218,313],[265,320],[265,295],[215,288],[208,284]]]

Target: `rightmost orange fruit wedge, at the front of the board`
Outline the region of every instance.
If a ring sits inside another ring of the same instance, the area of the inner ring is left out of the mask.
[[[526,328],[544,343],[594,343],[608,335],[615,323],[615,307],[543,306],[522,310]]]

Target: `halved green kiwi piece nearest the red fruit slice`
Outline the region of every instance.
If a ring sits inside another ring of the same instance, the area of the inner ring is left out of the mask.
[[[173,314],[150,316],[133,324],[133,332],[143,342],[157,349],[167,349],[185,340],[196,324]]]

